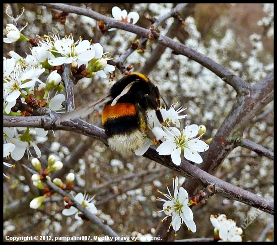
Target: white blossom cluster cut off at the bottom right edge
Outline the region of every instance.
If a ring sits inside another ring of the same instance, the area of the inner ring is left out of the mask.
[[[215,239],[219,241],[242,241],[242,228],[237,227],[236,222],[227,219],[225,214],[211,215],[211,223],[215,227]]]

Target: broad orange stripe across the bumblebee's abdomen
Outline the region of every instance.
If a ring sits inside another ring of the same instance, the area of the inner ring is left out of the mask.
[[[102,113],[102,123],[106,123],[108,119],[114,119],[122,116],[135,115],[136,110],[131,103],[116,103],[111,106],[106,105]]]

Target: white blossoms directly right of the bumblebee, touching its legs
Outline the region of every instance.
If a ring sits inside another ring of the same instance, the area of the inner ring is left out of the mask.
[[[180,130],[179,119],[184,119],[185,115],[178,115],[186,108],[180,107],[175,110],[176,104],[172,104],[169,110],[161,108],[161,114],[164,122],[160,123],[156,116],[155,110],[147,111],[148,128],[155,135],[156,140],[162,143],[158,146],[159,155],[171,155],[172,162],[176,165],[181,164],[181,154],[195,163],[202,163],[202,158],[198,152],[204,152],[209,149],[204,141],[200,140],[205,133],[205,126],[197,126],[196,124],[186,126]],[[142,156],[155,141],[149,137],[145,137],[144,145],[135,151],[136,155]]]

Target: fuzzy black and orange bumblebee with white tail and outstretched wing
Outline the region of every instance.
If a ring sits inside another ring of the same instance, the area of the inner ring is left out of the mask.
[[[147,126],[148,110],[155,110],[158,120],[163,123],[159,89],[141,73],[126,75],[111,87],[107,96],[67,113],[58,121],[85,117],[101,104],[104,104],[102,124],[108,144],[118,152],[133,152],[140,148],[146,135],[153,139]]]

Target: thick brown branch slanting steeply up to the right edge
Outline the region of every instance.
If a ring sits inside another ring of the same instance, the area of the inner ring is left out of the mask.
[[[249,122],[255,115],[273,100],[274,75],[271,72],[267,77],[253,85],[248,95],[237,97],[231,111],[226,116],[223,124],[218,129],[209,151],[201,155],[203,163],[201,169],[213,173],[224,161],[227,155],[236,147],[234,140],[241,137]],[[185,181],[183,187],[191,195],[199,191],[199,183],[194,180]]]

